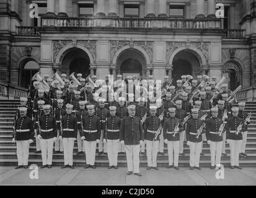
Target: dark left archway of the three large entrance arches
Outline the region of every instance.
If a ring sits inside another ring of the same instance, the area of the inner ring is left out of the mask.
[[[62,61],[63,71],[66,74],[81,73],[82,77],[90,74],[90,59],[85,51],[79,48],[70,48],[64,54]]]

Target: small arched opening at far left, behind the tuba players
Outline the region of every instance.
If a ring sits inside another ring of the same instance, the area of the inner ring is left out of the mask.
[[[32,85],[32,77],[40,69],[40,66],[33,59],[25,59],[20,66],[20,87],[29,88]]]

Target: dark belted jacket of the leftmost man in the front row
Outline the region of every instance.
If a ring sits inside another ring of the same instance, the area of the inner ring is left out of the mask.
[[[29,140],[33,139],[33,122],[29,117],[18,118],[15,123],[15,140]],[[20,131],[25,130],[25,131]]]

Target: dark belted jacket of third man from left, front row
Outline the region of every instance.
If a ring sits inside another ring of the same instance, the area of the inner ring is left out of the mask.
[[[70,138],[77,137],[77,118],[73,114],[66,114],[61,119],[63,131],[61,132],[62,137]],[[69,129],[69,130],[67,130]],[[71,130],[70,130],[71,129]]]

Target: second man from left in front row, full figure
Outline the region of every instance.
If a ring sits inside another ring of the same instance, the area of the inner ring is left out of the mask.
[[[44,115],[39,118],[39,134],[40,146],[42,149],[43,166],[41,168],[51,168],[53,160],[53,143],[57,137],[56,119],[50,114],[51,106],[43,106]]]

